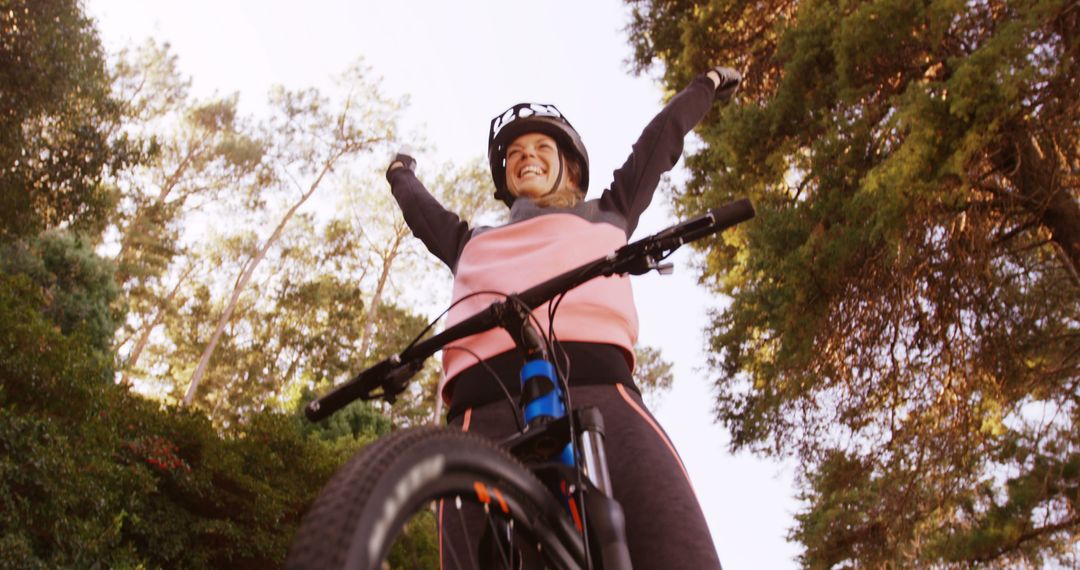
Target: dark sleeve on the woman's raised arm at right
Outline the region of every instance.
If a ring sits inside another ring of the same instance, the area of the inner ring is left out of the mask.
[[[600,207],[626,219],[626,236],[652,202],[660,177],[683,154],[683,141],[713,105],[715,90],[705,76],[694,79],[661,110],[634,142],[626,162],[615,172],[611,188],[600,195]]]

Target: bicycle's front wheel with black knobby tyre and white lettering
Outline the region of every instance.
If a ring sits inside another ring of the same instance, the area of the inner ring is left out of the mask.
[[[418,553],[424,541],[414,539],[424,532],[436,544]],[[334,475],[286,568],[422,568],[424,555],[442,555],[445,569],[584,566],[565,510],[516,459],[473,434],[414,428],[367,446]]]

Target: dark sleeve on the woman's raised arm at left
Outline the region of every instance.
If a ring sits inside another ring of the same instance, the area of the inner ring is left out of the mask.
[[[455,271],[461,249],[469,241],[469,225],[446,209],[417,179],[413,171],[397,168],[390,173],[390,191],[397,201],[405,223],[428,250]]]

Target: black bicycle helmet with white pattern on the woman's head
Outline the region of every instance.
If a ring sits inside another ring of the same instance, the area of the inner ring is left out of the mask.
[[[507,147],[526,133],[543,133],[555,139],[559,151],[570,154],[581,166],[578,186],[582,192],[589,190],[589,152],[573,125],[554,105],[518,103],[491,119],[488,131],[487,160],[491,165],[495,198],[507,206],[514,203],[515,196],[507,188]]]

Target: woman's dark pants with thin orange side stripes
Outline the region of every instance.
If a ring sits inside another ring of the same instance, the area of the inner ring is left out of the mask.
[[[575,407],[604,415],[605,446],[615,498],[626,516],[626,542],[635,570],[719,568],[716,547],[681,460],[640,396],[623,384],[572,386]],[[516,431],[505,402],[469,408],[449,420],[468,432],[500,439]],[[451,517],[443,521],[442,564],[456,569],[444,541],[461,540]],[[456,556],[456,555],[455,555]]]

